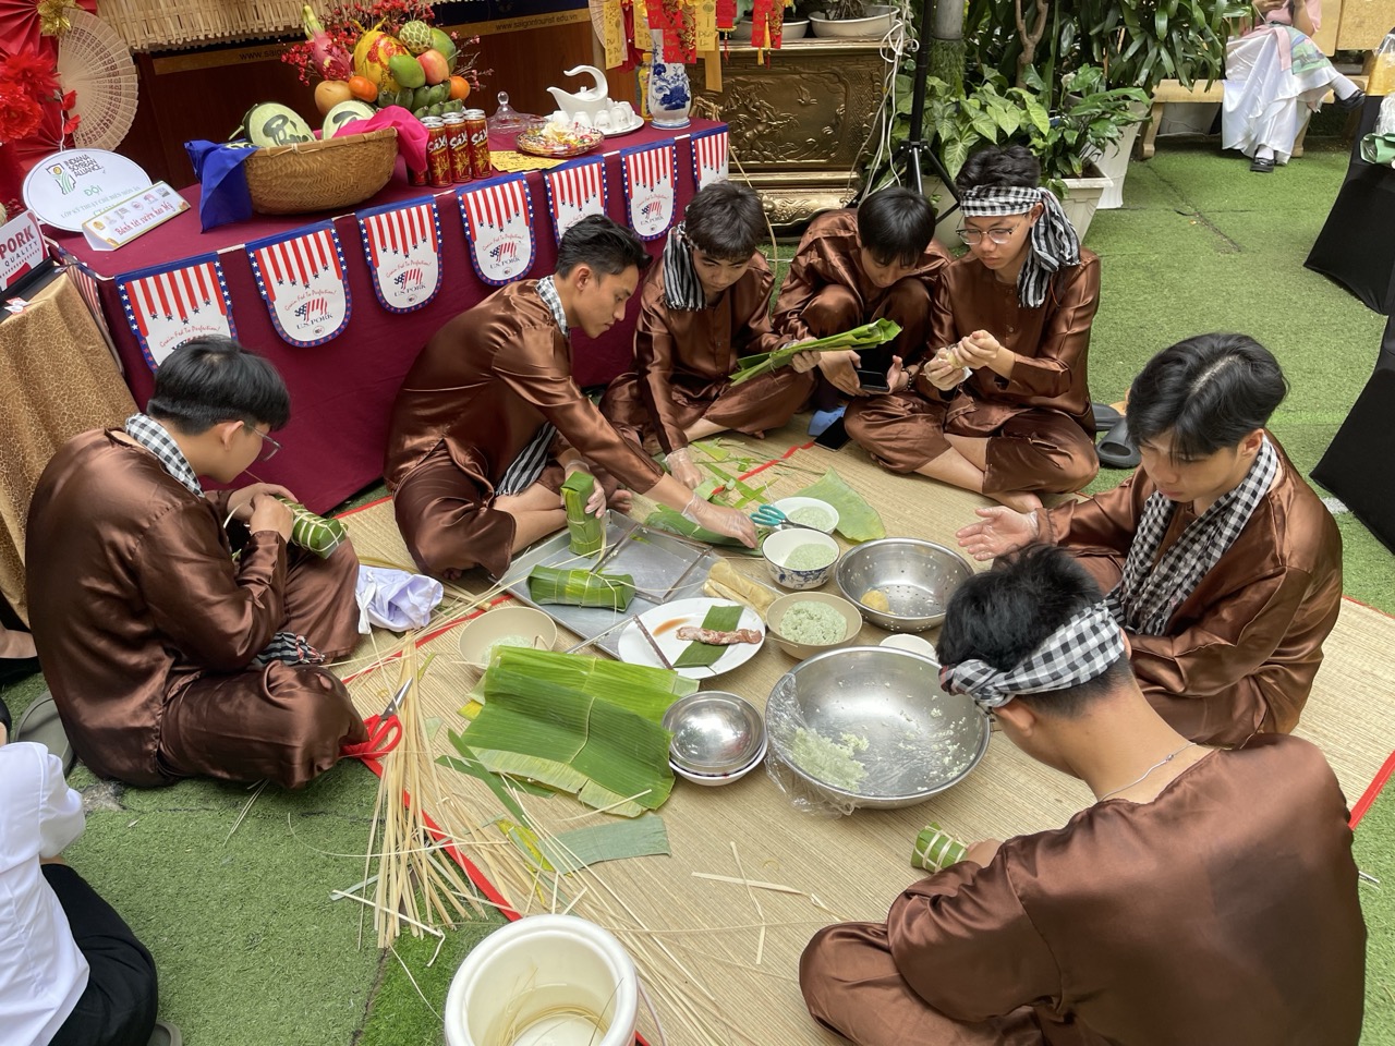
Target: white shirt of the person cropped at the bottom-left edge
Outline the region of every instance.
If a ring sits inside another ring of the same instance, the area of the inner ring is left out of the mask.
[[[86,990],[88,962],[39,872],[82,834],[82,796],[43,745],[0,746],[0,1029],[45,1046]]]

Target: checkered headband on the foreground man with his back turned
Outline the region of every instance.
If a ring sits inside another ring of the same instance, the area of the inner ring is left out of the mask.
[[[940,686],[997,708],[1023,693],[1050,693],[1088,683],[1124,654],[1124,639],[1103,601],[1092,602],[1050,633],[1020,664],[1002,671],[970,658],[940,668]]]

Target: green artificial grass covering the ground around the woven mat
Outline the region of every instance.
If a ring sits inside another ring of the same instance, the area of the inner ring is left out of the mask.
[[[1091,342],[1094,397],[1122,399],[1143,363],[1182,338],[1253,333],[1278,354],[1292,385],[1274,431],[1310,470],[1364,385],[1384,324],[1302,268],[1345,170],[1345,146],[1327,151],[1320,141],[1272,176],[1250,174],[1211,144],[1165,142],[1152,160],[1134,163],[1124,208],[1096,215],[1087,237],[1103,280]],[[791,248],[783,243],[781,257]],[[1094,488],[1122,477],[1106,470]],[[381,490],[353,503],[372,497]],[[1395,612],[1395,558],[1349,513],[1338,524],[1346,593]],[[18,715],[40,689],[33,678],[4,699]],[[431,939],[403,937],[396,955],[382,955],[370,923],[365,948],[357,948],[359,905],[331,902],[329,891],[363,879],[377,789],[367,770],[342,764],[301,792],[268,789],[226,844],[250,795],[240,787],[188,781],[123,791],[81,770],[73,781],[98,809],[68,859],[151,947],[162,1014],[183,1026],[186,1040],[442,1040],[451,975],[497,919],[448,934],[430,968]],[[1370,932],[1363,1046],[1395,1046],[1395,785],[1388,791],[1356,833],[1357,863],[1381,880],[1380,888],[1362,886]]]

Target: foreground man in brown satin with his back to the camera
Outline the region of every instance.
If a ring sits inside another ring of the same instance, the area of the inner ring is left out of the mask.
[[[859,1046],[1357,1046],[1366,926],[1321,750],[1177,734],[1057,548],[965,582],[937,653],[947,690],[1095,802],[820,930],[799,962],[820,1024]]]

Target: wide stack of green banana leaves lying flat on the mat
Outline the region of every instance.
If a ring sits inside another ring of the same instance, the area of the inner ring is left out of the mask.
[[[499,667],[484,674],[484,689],[488,700],[458,746],[494,773],[572,792],[587,806],[624,817],[657,809],[672,792],[672,734],[651,718]]]

